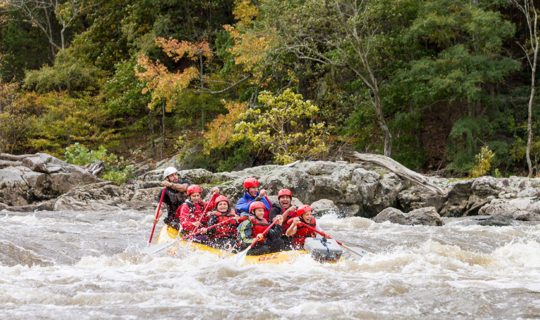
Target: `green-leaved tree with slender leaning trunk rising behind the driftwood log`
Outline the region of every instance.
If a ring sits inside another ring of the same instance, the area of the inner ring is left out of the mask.
[[[264,7],[267,29],[279,36],[277,50],[297,58],[352,72],[369,90],[384,154],[392,154],[392,134],[383,110],[381,81],[385,78],[385,21],[372,16],[375,1],[321,1],[299,3],[269,1]],[[363,88],[361,89],[363,90]]]

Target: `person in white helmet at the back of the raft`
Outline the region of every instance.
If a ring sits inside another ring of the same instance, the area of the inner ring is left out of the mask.
[[[186,200],[186,191],[190,183],[186,179],[179,179],[178,170],[174,167],[165,168],[163,179],[161,182],[161,185],[165,187],[163,202],[167,205],[167,216],[163,219],[163,222],[178,231],[180,225],[176,218],[176,210]],[[161,196],[161,192],[159,196]],[[161,215],[161,212],[159,215]]]

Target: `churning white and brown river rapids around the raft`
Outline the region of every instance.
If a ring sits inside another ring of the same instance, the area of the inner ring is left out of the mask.
[[[324,216],[368,251],[239,267],[141,253],[151,212],[0,212],[0,319],[540,318],[540,225],[443,227]]]

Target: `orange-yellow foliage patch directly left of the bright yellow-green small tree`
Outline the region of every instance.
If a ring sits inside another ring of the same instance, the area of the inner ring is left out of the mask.
[[[225,108],[228,113],[217,116],[208,124],[208,129],[204,133],[205,152],[224,146],[231,140],[234,134],[234,125],[247,110],[247,105],[241,102],[226,102]]]

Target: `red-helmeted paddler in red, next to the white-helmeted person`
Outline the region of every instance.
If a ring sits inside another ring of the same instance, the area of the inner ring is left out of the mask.
[[[202,199],[202,188],[196,184],[187,188],[188,199],[176,211],[176,217],[180,221],[182,232],[185,235],[195,232],[199,228],[203,228],[201,233],[205,233],[204,227],[208,222],[208,215],[204,212],[206,203]],[[219,193],[219,189],[212,189],[212,193]],[[212,198],[211,198],[212,199]],[[213,204],[208,204],[211,207]],[[204,242],[207,237],[197,237],[195,240]]]

